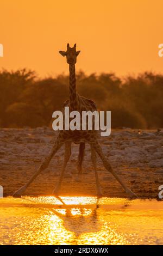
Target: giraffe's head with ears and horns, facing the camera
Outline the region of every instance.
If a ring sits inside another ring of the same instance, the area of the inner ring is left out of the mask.
[[[80,51],[76,51],[76,44],[71,48],[69,44],[67,44],[67,51],[59,51],[62,56],[66,56],[67,63],[70,65],[76,64],[77,56],[79,55]]]

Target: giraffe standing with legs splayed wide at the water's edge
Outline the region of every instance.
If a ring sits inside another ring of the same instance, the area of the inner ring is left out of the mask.
[[[76,51],[76,44],[73,47],[70,47],[67,44],[67,51],[59,51],[62,56],[66,56],[67,64],[69,65],[70,71],[70,99],[64,102],[64,106],[70,107],[70,111],[95,111],[97,110],[96,103],[86,97],[80,96],[76,90],[76,73],[75,73],[75,64],[77,62],[77,56],[79,55],[80,51]],[[78,165],[79,165],[79,173],[82,173],[82,161],[84,156],[84,148],[85,143],[90,144],[91,147],[91,160],[93,163],[93,168],[95,169],[95,178],[96,178],[96,189],[97,189],[97,196],[102,196],[101,187],[99,185],[99,178],[97,172],[97,165],[96,165],[96,153],[101,158],[104,167],[108,170],[115,179],[121,184],[123,189],[126,191],[130,198],[137,197],[136,194],[131,191],[121,180],[121,178],[116,174],[116,172],[112,169],[110,163],[106,159],[106,156],[103,154],[101,145],[98,142],[98,133],[95,130],[62,130],[59,131],[59,135],[54,142],[54,145],[45,160],[41,163],[40,167],[34,173],[32,178],[29,179],[26,185],[22,186],[18,189],[13,196],[14,197],[21,197],[22,193],[26,191],[27,187],[34,181],[34,179],[39,175],[42,170],[48,167],[49,162],[51,161],[52,157],[57,153],[60,147],[65,144],[65,157],[64,157],[64,164],[61,170],[60,178],[57,183],[57,186],[54,188],[53,193],[58,195],[58,191],[61,186],[62,179],[64,177],[65,168],[67,165],[68,160],[71,156],[71,144],[79,144],[79,157],[78,157]]]

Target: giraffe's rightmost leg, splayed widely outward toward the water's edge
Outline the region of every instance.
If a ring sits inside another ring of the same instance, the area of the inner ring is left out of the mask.
[[[120,179],[120,177],[114,172],[114,170],[112,169],[112,167],[110,166],[110,163],[106,160],[106,157],[103,154],[102,148],[99,145],[98,141],[96,141],[95,143],[93,143],[93,147],[95,148],[97,154],[101,157],[104,167],[109,170],[110,173],[112,173],[112,175],[115,177],[115,179],[121,184],[121,186],[123,187],[123,189],[126,191],[126,193],[128,194],[128,196],[130,198],[137,198],[136,194],[131,191],[124,183],[123,181]]]

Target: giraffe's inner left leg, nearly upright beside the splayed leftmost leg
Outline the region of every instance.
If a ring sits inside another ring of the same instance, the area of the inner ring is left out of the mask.
[[[70,159],[70,156],[71,156],[71,143],[70,143],[70,142],[66,142],[66,143],[65,143],[65,159],[64,159],[64,166],[62,167],[61,175],[60,175],[60,178],[59,178],[59,181],[58,181],[56,187],[55,187],[54,190],[53,190],[53,194],[58,194],[58,192],[59,192],[59,190],[60,190],[61,182],[62,182],[62,179],[63,179],[63,177],[64,177],[66,165],[67,165],[68,160]]]

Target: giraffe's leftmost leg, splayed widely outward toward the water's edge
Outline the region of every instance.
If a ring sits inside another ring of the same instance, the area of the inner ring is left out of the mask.
[[[59,141],[59,139],[57,139],[55,141],[55,144],[51,150],[51,153],[45,158],[45,160],[41,163],[39,169],[34,173],[34,175],[32,176],[32,178],[30,178],[30,180],[27,182],[26,185],[24,185],[23,187],[21,187],[20,189],[18,189],[14,194],[13,197],[21,197],[22,193],[24,193],[27,189],[27,187],[29,187],[29,185],[34,181],[34,179],[42,172],[42,170],[46,169],[48,167],[49,162],[51,161],[52,157],[55,155],[55,153],[57,153],[58,149],[61,147],[62,143],[61,141]]]

